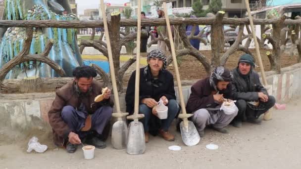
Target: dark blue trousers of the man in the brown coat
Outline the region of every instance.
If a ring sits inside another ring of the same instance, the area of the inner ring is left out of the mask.
[[[61,118],[70,127],[70,129],[77,133],[79,137],[86,138],[92,131],[102,134],[103,129],[109,123],[112,116],[112,108],[110,106],[102,106],[91,115],[91,129],[90,131],[81,131],[85,126],[88,114],[85,111],[79,111],[72,106],[65,106],[61,113]],[[105,131],[104,131],[105,132]]]

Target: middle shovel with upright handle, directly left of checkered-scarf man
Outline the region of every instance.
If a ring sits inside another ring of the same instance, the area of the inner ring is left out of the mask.
[[[141,36],[141,0],[138,0],[138,25],[137,25],[137,56],[136,56],[136,78],[135,78],[135,105],[134,114],[127,116],[128,120],[134,120],[129,125],[129,134],[126,152],[131,155],[143,154],[146,149],[143,124],[139,119],[144,114],[139,114],[139,81],[140,81],[140,36]]]

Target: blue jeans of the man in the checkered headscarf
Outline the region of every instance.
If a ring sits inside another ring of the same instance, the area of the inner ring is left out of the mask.
[[[178,114],[179,111],[179,105],[176,100],[171,99],[168,101],[168,115],[167,119],[162,119],[161,123],[161,129],[164,131],[168,131],[168,128],[171,125],[171,122],[175,119],[175,117]],[[151,113],[151,108],[149,108],[146,104],[140,104],[139,105],[139,113],[144,114],[144,118],[140,119],[140,121],[143,123],[144,132],[149,131],[149,122],[151,118],[157,118]],[[158,118],[157,118],[158,119]]]

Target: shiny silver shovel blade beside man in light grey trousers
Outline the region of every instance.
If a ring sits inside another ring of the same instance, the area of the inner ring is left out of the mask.
[[[193,145],[197,145],[200,142],[201,140],[200,134],[198,133],[197,128],[191,121],[188,121],[188,127],[185,127],[184,122],[181,122],[180,130],[181,130],[182,140],[185,145],[193,146]]]

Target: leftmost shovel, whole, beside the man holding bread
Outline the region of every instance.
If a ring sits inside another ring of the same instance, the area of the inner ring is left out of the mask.
[[[104,26],[106,45],[107,45],[107,51],[108,51],[108,56],[109,56],[108,60],[109,60],[109,65],[110,65],[111,80],[112,80],[113,93],[114,93],[114,101],[115,101],[115,106],[116,106],[116,111],[117,111],[117,113],[112,114],[113,117],[117,118],[117,122],[115,122],[112,127],[111,142],[112,142],[112,145],[114,148],[125,149],[127,135],[128,135],[128,127],[127,127],[126,122],[124,122],[122,120],[122,117],[127,116],[129,113],[121,113],[121,111],[120,111],[115,70],[114,70],[114,65],[113,65],[112,49],[111,49],[111,43],[110,43],[110,37],[109,37],[109,32],[108,32],[108,26],[107,26],[107,21],[106,21],[103,0],[100,0],[100,6],[101,6],[101,12],[102,12],[102,16],[103,16],[103,26]]]

